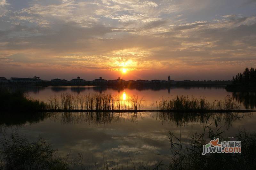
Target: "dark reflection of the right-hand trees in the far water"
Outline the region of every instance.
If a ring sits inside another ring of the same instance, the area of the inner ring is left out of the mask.
[[[246,109],[254,109],[256,107],[256,92],[234,92],[233,99],[243,103]]]

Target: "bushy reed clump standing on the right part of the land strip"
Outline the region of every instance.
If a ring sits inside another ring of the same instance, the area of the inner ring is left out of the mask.
[[[175,98],[166,99],[162,98],[156,101],[156,109],[158,110],[237,110],[239,106],[233,101],[230,95],[225,97],[224,101],[215,100],[210,103],[205,97],[200,99],[188,96],[177,96]]]

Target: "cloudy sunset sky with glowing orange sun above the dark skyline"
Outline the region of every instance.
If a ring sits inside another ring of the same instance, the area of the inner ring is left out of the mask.
[[[245,67],[256,0],[0,0],[0,77],[230,80]]]

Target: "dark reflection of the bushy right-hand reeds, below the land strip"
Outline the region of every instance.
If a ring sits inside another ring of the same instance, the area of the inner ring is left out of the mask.
[[[177,126],[187,126],[193,123],[205,123],[206,120],[216,118],[224,121],[227,128],[236,120],[242,120],[245,116],[250,116],[251,113],[171,113],[171,112],[156,112],[153,117],[156,117],[162,123],[173,122]]]

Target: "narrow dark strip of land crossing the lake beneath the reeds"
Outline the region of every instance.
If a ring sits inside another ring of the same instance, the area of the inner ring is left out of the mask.
[[[84,109],[72,109],[72,110],[66,110],[66,109],[45,109],[45,110],[39,110],[38,112],[186,112],[186,113],[248,113],[248,112],[256,112],[256,110],[204,110],[204,109],[198,109],[198,110],[84,110]]]

